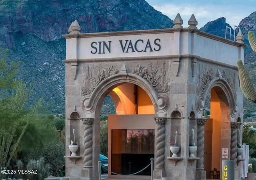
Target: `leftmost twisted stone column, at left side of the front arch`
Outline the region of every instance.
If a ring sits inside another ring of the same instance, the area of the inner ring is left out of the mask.
[[[84,123],[84,167],[92,166],[92,124],[93,118],[82,118]]]

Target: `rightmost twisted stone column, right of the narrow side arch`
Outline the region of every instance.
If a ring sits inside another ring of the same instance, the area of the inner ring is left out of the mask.
[[[230,138],[230,160],[236,161],[236,156],[237,156],[237,130],[239,128],[240,123],[238,122],[231,122],[231,138]]]

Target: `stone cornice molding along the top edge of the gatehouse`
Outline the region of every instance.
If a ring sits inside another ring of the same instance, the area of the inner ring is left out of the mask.
[[[196,33],[199,36],[224,42],[226,44],[234,45],[237,47],[246,47],[245,44],[227,40],[219,36],[208,34],[196,29],[190,28],[169,28],[169,29],[158,29],[158,30],[138,30],[138,31],[122,31],[122,32],[101,32],[101,33],[85,33],[85,34],[65,34],[62,35],[64,38],[94,38],[94,37],[108,37],[108,36],[127,36],[127,35],[140,35],[140,34],[162,34],[162,33],[173,33],[173,32],[189,32]]]

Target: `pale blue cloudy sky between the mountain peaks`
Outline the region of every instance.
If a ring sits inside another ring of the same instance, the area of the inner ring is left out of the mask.
[[[220,17],[226,18],[226,23],[234,27],[238,26],[239,22],[254,12],[254,6],[250,4],[220,4],[216,1],[216,4],[190,4],[189,2],[171,3],[171,2],[159,2],[157,0],[148,0],[150,5],[156,10],[162,12],[170,19],[174,20],[176,15],[180,13],[183,19],[183,27],[188,27],[188,20],[192,14],[195,15],[198,21],[198,28],[204,26],[207,22],[216,20]],[[203,1],[199,1],[203,2]],[[230,2],[231,3],[231,2]],[[246,11],[245,11],[246,10]]]

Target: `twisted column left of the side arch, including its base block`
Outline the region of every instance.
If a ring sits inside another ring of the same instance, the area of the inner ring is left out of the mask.
[[[197,118],[197,157],[200,158],[196,162],[196,179],[206,179],[204,171],[204,125],[206,118]]]

